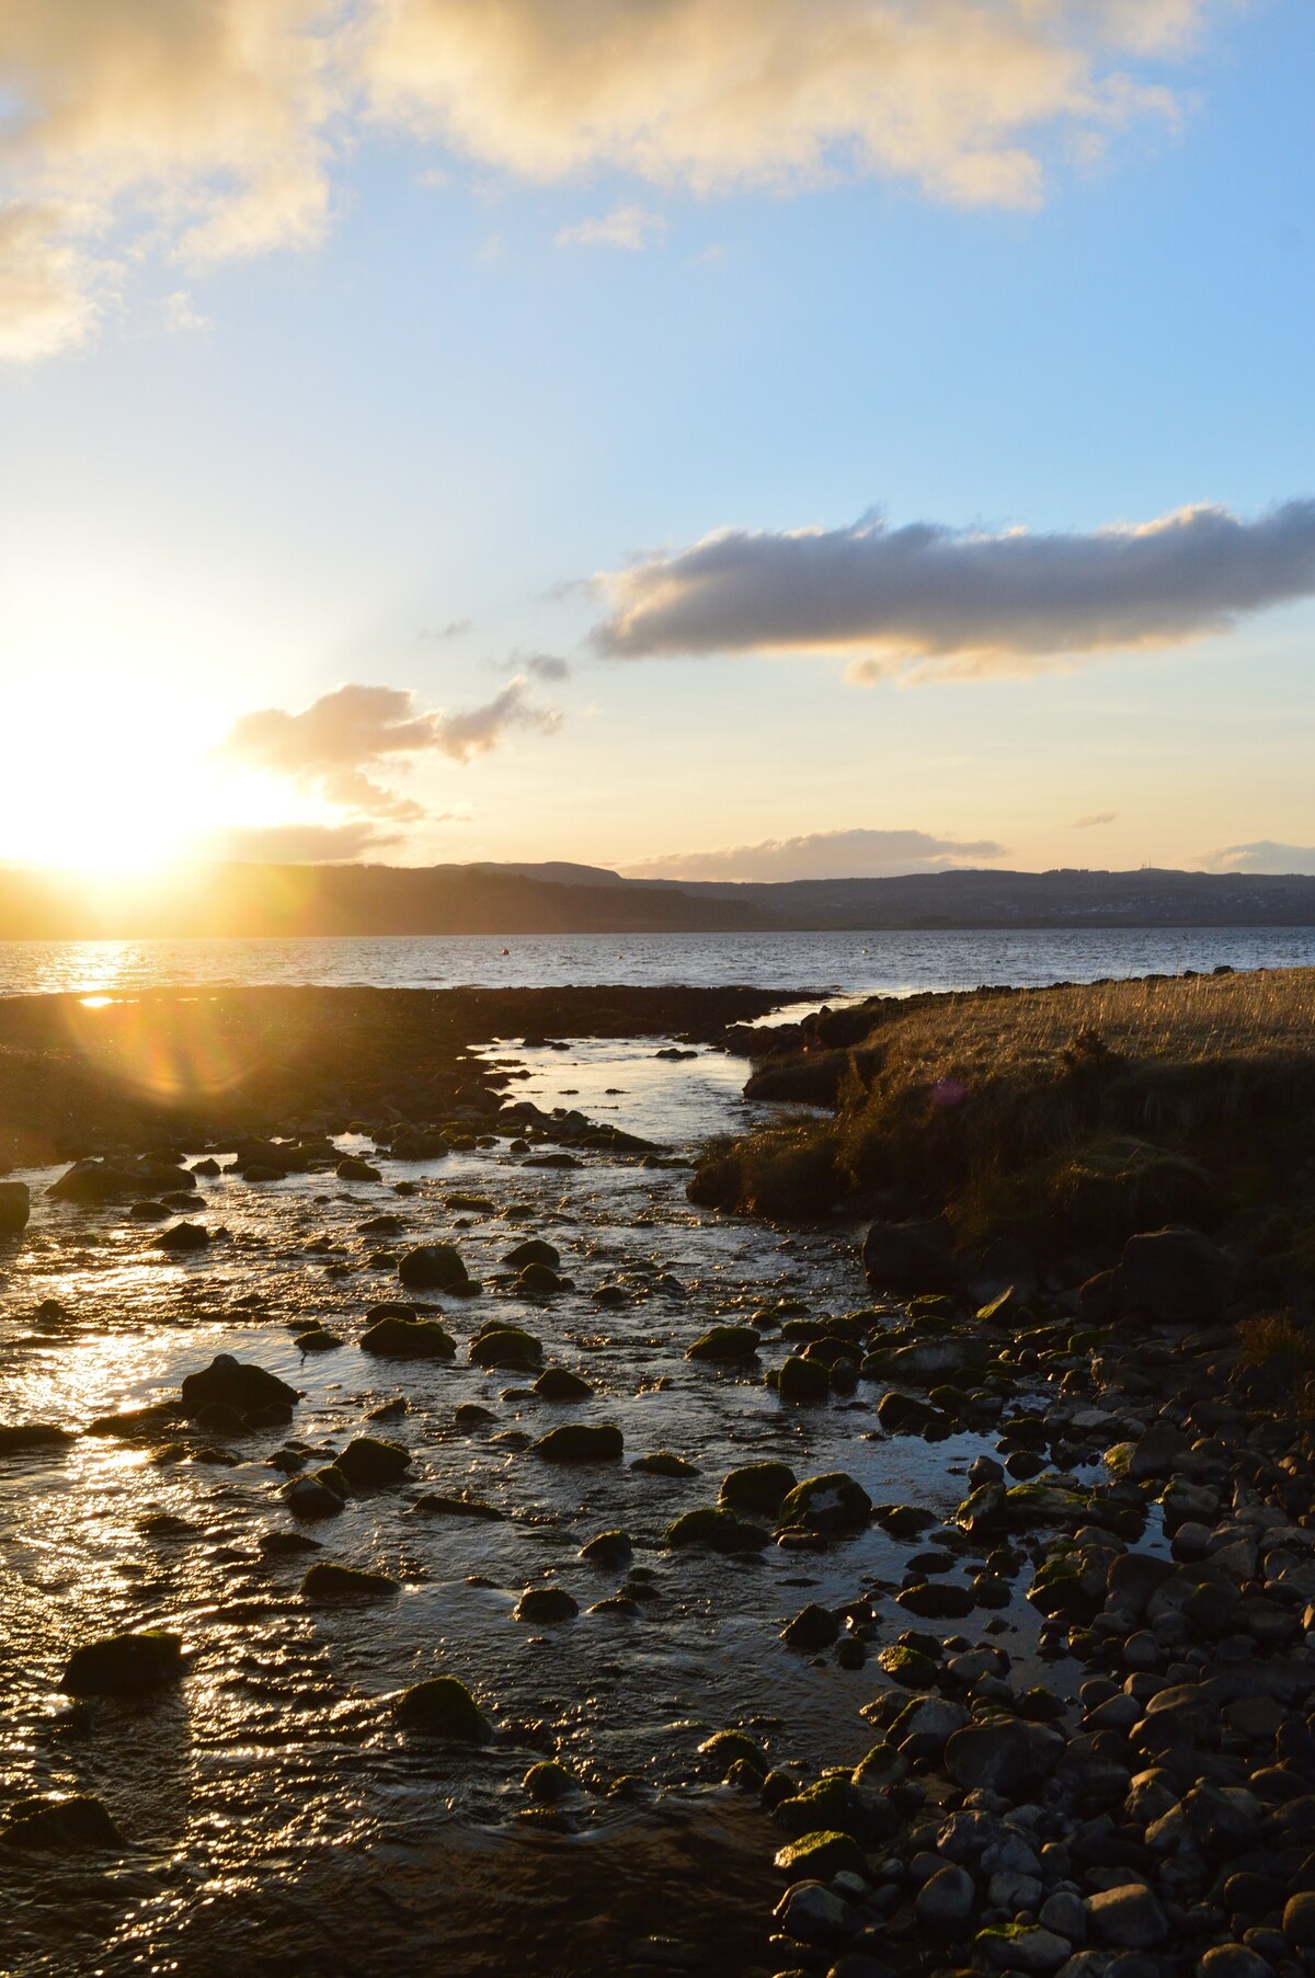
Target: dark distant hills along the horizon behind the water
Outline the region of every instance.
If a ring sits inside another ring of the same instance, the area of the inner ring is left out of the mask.
[[[1262,926],[1315,926],[1315,878],[957,870],[728,884],[554,862],[219,864],[107,884],[0,870],[0,940]]]

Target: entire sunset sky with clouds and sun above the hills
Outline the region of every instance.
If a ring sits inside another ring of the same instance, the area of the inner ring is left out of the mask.
[[[0,6],[0,860],[1315,870],[1309,30]]]

